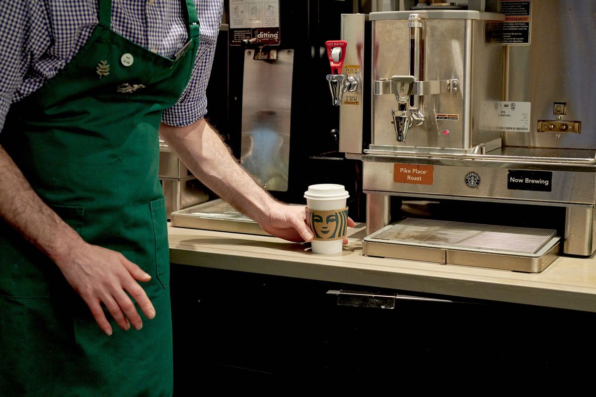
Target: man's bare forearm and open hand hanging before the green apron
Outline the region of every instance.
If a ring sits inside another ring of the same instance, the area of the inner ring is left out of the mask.
[[[147,282],[150,276],[119,252],[83,241],[39,198],[1,146],[0,217],[58,265],[107,335],[112,329],[101,303],[122,329],[128,330],[130,324],[135,329],[142,327],[141,317],[126,292],[148,318],[155,316],[151,301],[135,281]]]

